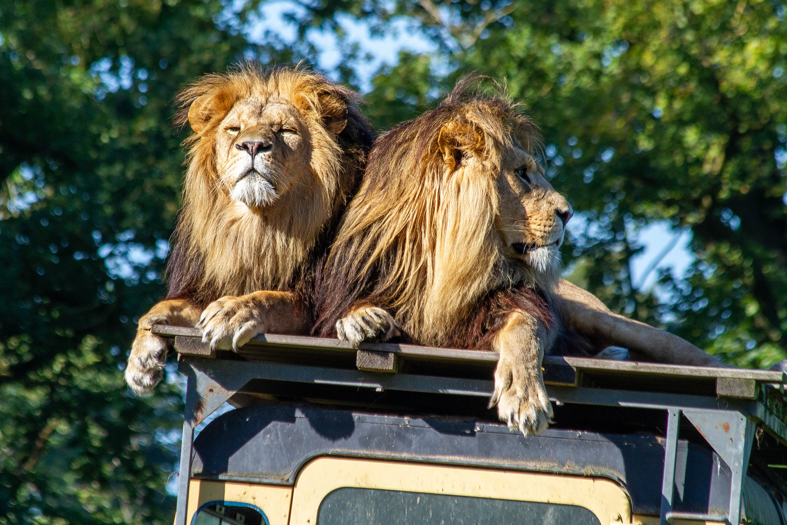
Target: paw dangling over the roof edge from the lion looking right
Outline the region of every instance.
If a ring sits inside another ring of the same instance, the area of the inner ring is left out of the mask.
[[[538,369],[513,360],[497,362],[490,408],[495,404],[501,421],[526,436],[540,434],[552,421],[552,404]]]

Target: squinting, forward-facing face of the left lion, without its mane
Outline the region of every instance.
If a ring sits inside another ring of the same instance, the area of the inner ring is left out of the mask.
[[[231,198],[249,208],[272,205],[309,172],[309,128],[286,102],[236,103],[216,135],[216,172]]]

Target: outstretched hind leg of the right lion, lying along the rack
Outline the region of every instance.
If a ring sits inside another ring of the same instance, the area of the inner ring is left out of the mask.
[[[556,301],[563,322],[600,346],[623,346],[657,363],[724,367],[685,339],[611,312],[596,296],[560,279]]]

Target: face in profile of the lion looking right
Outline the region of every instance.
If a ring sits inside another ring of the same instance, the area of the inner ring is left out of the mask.
[[[509,148],[502,158],[497,192],[495,228],[504,256],[539,273],[556,268],[573,211],[545,179],[538,161],[518,146]]]

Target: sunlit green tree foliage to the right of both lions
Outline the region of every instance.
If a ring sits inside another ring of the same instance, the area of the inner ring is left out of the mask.
[[[575,280],[730,363],[785,357],[783,4],[426,0],[396,9],[442,38],[453,68],[443,90],[468,71],[504,80],[541,125],[549,176],[578,212],[564,253]],[[375,79],[369,97],[382,123],[415,110],[406,90],[435,85],[418,60]],[[395,110],[379,93],[399,95]],[[631,282],[641,250],[632,234],[653,220],[693,232],[689,278],[663,275],[667,304]]]

